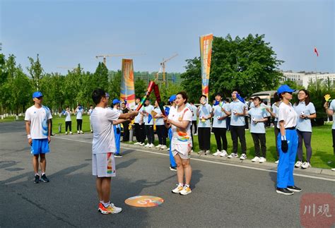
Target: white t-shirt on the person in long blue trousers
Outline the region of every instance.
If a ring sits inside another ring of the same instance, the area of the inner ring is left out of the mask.
[[[281,102],[278,109],[278,124],[277,128],[280,128],[279,122],[285,121],[285,128],[293,128],[297,126],[298,114],[294,111],[292,104],[285,104]]]

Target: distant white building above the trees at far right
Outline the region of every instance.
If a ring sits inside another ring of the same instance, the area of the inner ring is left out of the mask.
[[[331,82],[331,85],[335,85],[335,73],[321,73],[321,72],[293,72],[293,71],[282,71],[283,78],[281,78],[281,82],[285,82],[286,80],[293,80],[298,85],[303,85],[307,88],[308,83],[312,80],[315,82],[315,78],[317,80],[322,79],[326,81],[328,78]]]

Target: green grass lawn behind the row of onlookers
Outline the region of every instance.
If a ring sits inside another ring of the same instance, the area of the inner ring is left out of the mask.
[[[23,117],[20,117],[22,120]],[[72,119],[72,132],[76,133],[76,116],[71,116]],[[0,122],[14,121],[14,117],[8,117]],[[58,133],[59,124],[61,124],[61,133],[65,133],[65,117],[53,116],[52,119],[52,132]],[[83,131],[90,132],[90,120],[89,116],[83,115]],[[199,150],[198,136],[194,137],[194,151]],[[247,158],[252,159],[254,157],[254,143],[252,141],[252,136],[249,131],[245,132],[245,138],[247,140]],[[230,132],[227,133],[228,139],[228,154],[232,151],[233,142],[230,138]],[[135,137],[134,137],[135,140]],[[155,141],[158,144],[158,140]],[[169,140],[167,139],[167,145],[169,145]],[[266,160],[268,162],[274,162],[276,160],[276,144],[274,138],[274,128],[266,128]],[[213,134],[211,134],[211,152],[216,152],[216,140]],[[239,144],[239,154],[241,152]],[[312,133],[312,167],[319,168],[334,168],[335,167],[335,156],[332,148],[331,139],[331,124],[326,124],[324,126],[313,127]],[[304,157],[306,155],[304,146]],[[331,162],[331,163],[330,163]]]

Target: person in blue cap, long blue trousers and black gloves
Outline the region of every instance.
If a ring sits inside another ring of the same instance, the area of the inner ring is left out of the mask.
[[[277,90],[282,102],[278,108],[278,128],[280,131],[277,138],[279,162],[276,192],[286,196],[302,191],[301,188],[294,185],[293,178],[295,157],[298,150],[298,133],[295,130],[298,114],[290,104],[294,91],[288,85],[281,85]]]

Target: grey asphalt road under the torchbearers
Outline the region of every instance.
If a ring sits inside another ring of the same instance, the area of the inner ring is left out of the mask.
[[[24,123],[0,124],[0,227],[300,227],[304,193],[335,193],[331,177],[295,176],[303,192],[283,196],[275,191],[276,172],[192,160],[193,192],[180,196],[171,193],[177,176],[167,156],[127,146],[112,179],[112,202],[123,212],[100,215],[91,142],[90,133],[52,137],[50,182],[33,184]],[[155,208],[124,203],[139,195],[165,202]]]

